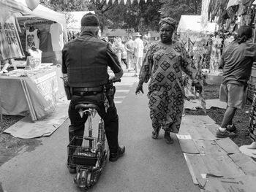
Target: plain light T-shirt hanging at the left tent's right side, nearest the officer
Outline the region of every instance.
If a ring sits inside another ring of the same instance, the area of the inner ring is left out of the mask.
[[[53,51],[61,51],[63,42],[63,27],[60,23],[53,23],[50,25],[50,37]]]

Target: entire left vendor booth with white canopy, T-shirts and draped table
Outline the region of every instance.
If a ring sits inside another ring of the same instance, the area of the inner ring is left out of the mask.
[[[40,4],[32,10],[28,2],[0,1],[1,61],[21,66],[0,74],[0,107],[4,115],[29,113],[34,121],[53,112],[64,96],[58,66],[67,26],[64,14]]]

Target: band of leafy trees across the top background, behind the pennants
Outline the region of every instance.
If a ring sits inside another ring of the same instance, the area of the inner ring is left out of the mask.
[[[158,30],[161,17],[170,16],[179,21],[181,15],[200,15],[202,0],[154,0],[147,3],[135,0],[133,4],[127,1],[125,5],[124,1],[118,4],[117,0],[114,4],[106,4],[106,0],[40,0],[40,3],[57,12],[94,10],[102,29],[134,28],[143,33]]]

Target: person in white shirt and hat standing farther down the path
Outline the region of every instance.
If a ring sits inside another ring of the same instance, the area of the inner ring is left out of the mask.
[[[134,56],[135,56],[135,74],[132,77],[138,77],[138,72],[140,72],[140,68],[143,60],[143,40],[140,39],[140,33],[135,33],[135,41],[134,41]]]

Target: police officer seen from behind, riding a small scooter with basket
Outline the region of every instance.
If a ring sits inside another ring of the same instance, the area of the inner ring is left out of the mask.
[[[68,78],[72,90],[69,104],[69,142],[74,136],[82,136],[87,115],[80,118],[75,104],[83,101],[85,96],[98,96],[103,91],[103,85],[108,80],[119,80],[123,70],[118,58],[111,50],[108,42],[99,39],[99,20],[96,15],[88,13],[81,19],[80,36],[64,45],[62,50],[62,73]],[[109,77],[108,66],[114,76]],[[99,115],[105,122],[105,133],[110,148],[110,161],[116,161],[124,155],[125,147],[118,145],[118,115],[112,99],[110,107],[105,112],[102,102],[99,104]],[[68,159],[69,161],[69,159]],[[69,167],[69,172],[75,173],[75,167]]]

